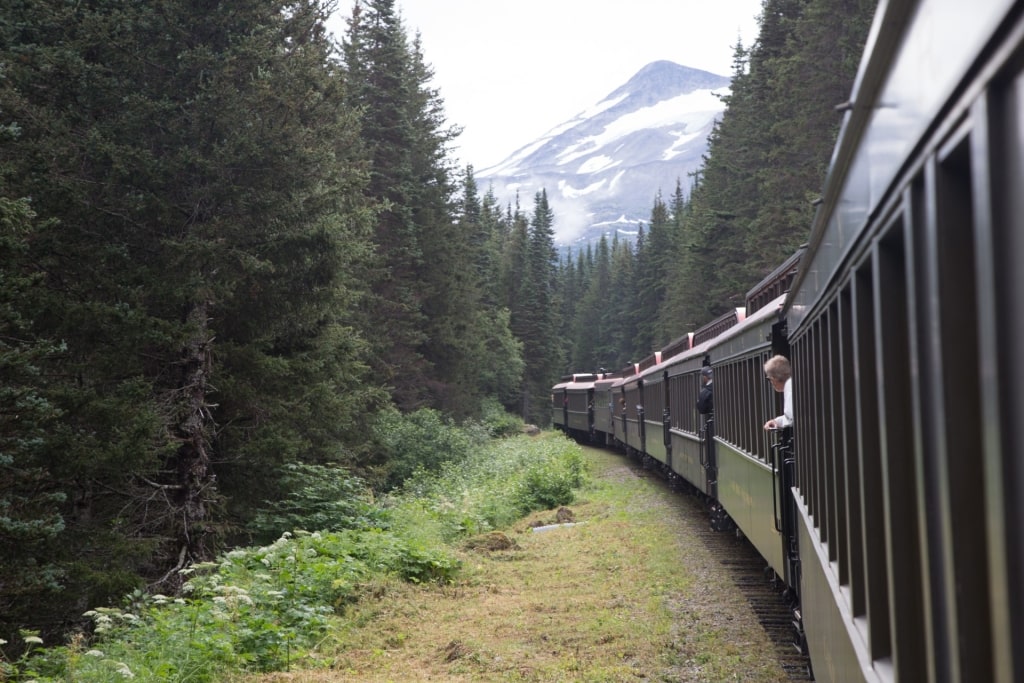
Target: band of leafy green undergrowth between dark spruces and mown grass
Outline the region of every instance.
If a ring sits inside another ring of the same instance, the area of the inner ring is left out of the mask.
[[[585,476],[581,449],[561,436],[495,440],[440,473],[413,475],[361,515],[372,526],[295,530],[233,550],[189,567],[181,596],[138,592],[123,607],[90,611],[94,633],[69,645],[47,648],[24,633],[32,647],[0,660],[0,681],[202,683],[322,666],[337,634],[365,620],[361,605],[402,587],[458,590],[460,541],[571,503]]]

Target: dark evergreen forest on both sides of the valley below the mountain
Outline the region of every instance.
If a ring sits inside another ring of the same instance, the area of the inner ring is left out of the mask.
[[[561,375],[741,306],[807,239],[872,11],[764,0],[699,174],[564,257],[545,191],[452,160],[396,0],[7,2],[0,641],[173,595],[324,471],[398,488],[443,465],[423,433],[544,426]]]

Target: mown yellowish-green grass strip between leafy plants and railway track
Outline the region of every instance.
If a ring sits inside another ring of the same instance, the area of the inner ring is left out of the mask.
[[[587,454],[595,483],[570,506],[574,525],[535,531],[556,522],[548,511],[504,529],[509,548],[498,535],[469,544],[454,585],[381,583],[316,648],[322,668],[232,682],[784,680],[758,664],[769,645],[752,652],[708,613],[714,598],[689,611],[707,587],[683,556],[673,494],[621,456]]]

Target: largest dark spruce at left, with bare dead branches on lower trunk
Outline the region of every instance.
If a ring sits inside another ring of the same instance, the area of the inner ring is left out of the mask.
[[[41,620],[172,589],[280,494],[278,465],[349,458],[369,214],[326,18],[41,0],[0,24],[4,196],[45,220],[31,331],[63,343],[38,386],[71,597]]]

